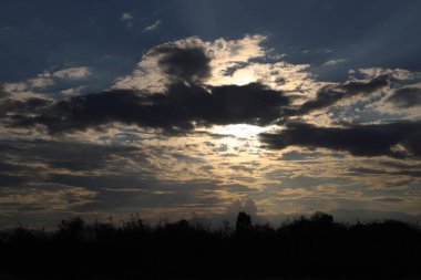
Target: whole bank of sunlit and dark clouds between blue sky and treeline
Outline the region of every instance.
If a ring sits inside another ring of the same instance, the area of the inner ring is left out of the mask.
[[[265,40],[156,45],[104,91],[84,66],[3,83],[2,215],[417,212],[419,73],[321,81]]]

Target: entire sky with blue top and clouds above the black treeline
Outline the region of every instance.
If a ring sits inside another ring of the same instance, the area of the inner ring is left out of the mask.
[[[1,1],[0,227],[421,217],[420,12]]]

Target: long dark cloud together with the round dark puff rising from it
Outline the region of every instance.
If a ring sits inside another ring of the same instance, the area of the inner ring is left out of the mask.
[[[193,131],[196,125],[267,125],[279,118],[289,97],[260,83],[205,86],[210,59],[195,43],[168,43],[152,49],[158,66],[171,77],[164,93],[112,90],[72,96],[68,100],[4,100],[2,117],[11,126],[43,125],[52,134],[119,122],[166,133]]]

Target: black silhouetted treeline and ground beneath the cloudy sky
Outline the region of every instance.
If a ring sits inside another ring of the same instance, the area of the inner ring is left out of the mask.
[[[239,212],[219,229],[187,220],[151,226],[60,222],[57,231],[18,227],[0,237],[0,277],[163,279],[255,277],[419,277],[421,231],[393,221],[343,225],[316,212],[274,228]]]

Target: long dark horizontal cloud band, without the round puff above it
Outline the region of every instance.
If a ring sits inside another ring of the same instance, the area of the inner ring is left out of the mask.
[[[30,127],[41,124],[50,133],[97,128],[113,122],[174,133],[191,131],[195,123],[267,125],[279,117],[281,107],[288,103],[281,92],[259,83],[209,89],[175,83],[166,93],[144,95],[114,90],[73,96],[34,111],[32,105],[19,102],[10,104],[9,111],[14,112],[10,116],[12,125]],[[28,111],[27,114],[23,111]]]

